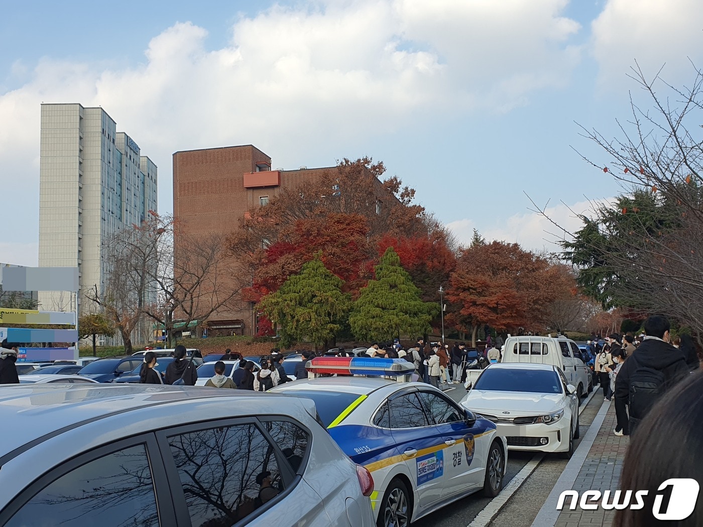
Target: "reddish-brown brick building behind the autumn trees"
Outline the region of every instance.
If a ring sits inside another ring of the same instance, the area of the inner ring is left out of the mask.
[[[183,235],[229,235],[239,228],[248,211],[266,205],[283,189],[304,188],[336,169],[272,170],[271,157],[253,145],[176,152],[174,218]],[[375,182],[377,193],[387,196],[382,183]],[[375,212],[380,206],[379,200]],[[248,287],[252,279],[244,274],[233,269],[221,280],[237,280],[240,287]],[[256,334],[256,325],[255,304],[245,297],[238,306],[221,309],[208,321],[210,334],[251,335]]]

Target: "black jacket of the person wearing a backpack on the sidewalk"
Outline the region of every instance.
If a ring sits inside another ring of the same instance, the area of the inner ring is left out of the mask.
[[[686,358],[681,352],[664,341],[645,339],[638,349],[625,360],[615,377],[615,398],[625,404],[629,402],[630,379],[638,367],[650,367],[664,375],[664,391],[668,390],[689,374]],[[631,415],[638,422],[643,415]]]

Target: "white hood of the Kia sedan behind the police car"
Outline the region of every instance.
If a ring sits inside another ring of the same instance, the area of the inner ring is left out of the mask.
[[[473,412],[485,412],[499,417],[545,415],[564,406],[563,393],[529,393],[521,391],[471,390],[461,404]],[[505,412],[509,412],[506,414]]]

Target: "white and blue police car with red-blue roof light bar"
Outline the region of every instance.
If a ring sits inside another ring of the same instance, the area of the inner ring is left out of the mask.
[[[378,525],[405,527],[479,490],[489,497],[500,492],[505,438],[493,422],[462,409],[434,386],[407,382],[413,364],[316,357],[307,370],[314,378],[272,391],[312,399],[330,436],[370,471]]]

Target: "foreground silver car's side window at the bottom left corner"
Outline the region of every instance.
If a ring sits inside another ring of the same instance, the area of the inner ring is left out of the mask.
[[[34,495],[5,525],[49,524],[158,527],[145,446],[98,457],[60,476]]]

